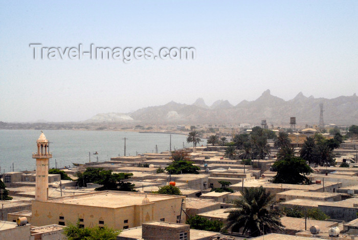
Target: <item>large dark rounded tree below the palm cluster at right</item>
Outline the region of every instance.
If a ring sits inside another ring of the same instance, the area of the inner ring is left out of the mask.
[[[286,156],[281,160],[277,160],[273,168],[277,171],[273,180],[274,183],[308,183],[309,180],[306,176],[313,172],[304,159],[294,156]]]

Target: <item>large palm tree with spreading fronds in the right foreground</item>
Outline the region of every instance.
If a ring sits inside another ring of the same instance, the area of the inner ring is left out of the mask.
[[[230,210],[225,229],[232,228],[249,236],[282,231],[282,224],[277,210],[267,210],[273,202],[274,195],[266,192],[262,186],[244,188],[241,197],[234,201],[237,209]]]

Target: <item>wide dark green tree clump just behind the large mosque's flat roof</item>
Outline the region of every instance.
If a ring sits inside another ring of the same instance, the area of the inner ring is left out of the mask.
[[[77,172],[77,184],[79,187],[87,187],[87,183],[96,183],[103,185],[96,188],[96,191],[118,190],[118,191],[135,191],[134,184],[124,182],[133,176],[133,173],[113,173],[112,170],[103,170],[103,168],[87,168],[84,172]]]

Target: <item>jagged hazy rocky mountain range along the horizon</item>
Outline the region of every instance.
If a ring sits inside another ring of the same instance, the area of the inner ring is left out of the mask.
[[[357,124],[358,97],[340,96],[333,99],[306,97],[300,92],[285,101],[266,90],[254,101],[243,100],[232,105],[228,100],[217,100],[211,106],[198,98],[193,104],[169,102],[161,106],[141,108],[130,114],[98,114],[86,122],[142,122],[175,124],[289,124],[290,117],[296,117],[298,124],[317,124],[320,106],[324,105],[324,122],[334,124]]]

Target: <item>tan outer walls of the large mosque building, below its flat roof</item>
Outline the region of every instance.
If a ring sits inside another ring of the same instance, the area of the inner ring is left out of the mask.
[[[120,208],[33,201],[32,225],[44,226],[59,224],[59,222],[76,223],[78,219],[83,219],[80,224],[85,227],[101,226],[99,221],[104,221],[105,225],[115,229],[123,229],[124,226],[137,227],[144,222],[160,221],[163,218],[167,222],[176,223],[183,198],[165,199],[149,204]],[[63,220],[59,219],[60,216],[63,217]],[[124,220],[128,220],[128,223],[124,223]],[[184,220],[185,217],[182,214],[182,223]]]

